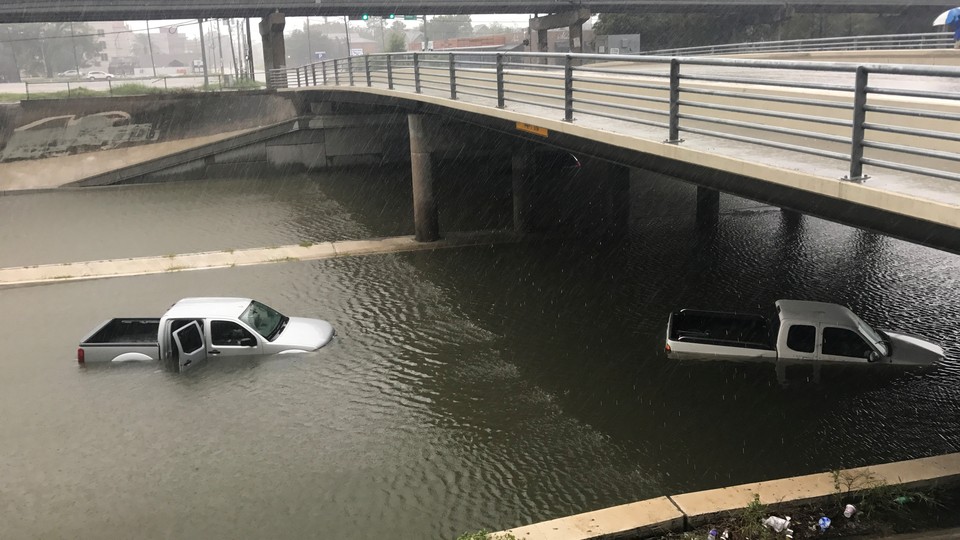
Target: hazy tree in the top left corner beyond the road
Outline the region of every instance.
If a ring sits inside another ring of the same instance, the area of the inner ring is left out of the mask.
[[[29,23],[0,27],[0,36],[9,37],[18,67],[28,75],[53,77],[60,71],[80,69],[97,57],[101,45],[95,32],[85,24]]]

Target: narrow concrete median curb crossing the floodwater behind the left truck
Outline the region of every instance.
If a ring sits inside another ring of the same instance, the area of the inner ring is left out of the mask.
[[[375,240],[346,240],[309,245],[10,267],[0,268],[0,287],[492,245],[517,242],[519,239],[520,237],[516,234],[506,231],[449,235],[436,242],[417,242],[412,236],[396,236]]]

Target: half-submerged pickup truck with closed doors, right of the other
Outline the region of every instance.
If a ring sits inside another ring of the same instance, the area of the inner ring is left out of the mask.
[[[671,359],[929,366],[943,349],[924,339],[874,330],[837,304],[778,300],[779,325],[761,315],[682,309],[667,321]],[[779,326],[779,328],[778,328]],[[778,370],[779,371],[779,370]]]

